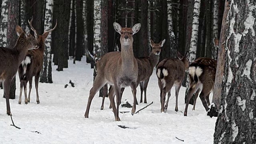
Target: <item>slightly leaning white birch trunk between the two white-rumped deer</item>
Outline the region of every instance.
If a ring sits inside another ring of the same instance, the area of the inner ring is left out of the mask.
[[[197,42],[198,42],[200,2],[201,2],[201,0],[195,0],[195,3],[194,3],[194,12],[193,12],[193,21],[192,21],[192,35],[191,35],[191,42],[190,42],[190,48],[189,48],[189,53],[190,53],[189,62],[190,63],[192,63],[192,62],[194,62],[194,60],[196,60],[196,48],[197,48]],[[189,90],[189,77],[187,76],[185,102],[186,102],[186,96],[188,95],[188,90]],[[194,101],[194,96],[191,99]],[[192,100],[190,100],[190,102]]]

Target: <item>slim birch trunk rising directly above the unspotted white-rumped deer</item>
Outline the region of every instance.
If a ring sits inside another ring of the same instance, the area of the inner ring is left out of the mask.
[[[167,14],[168,14],[168,35],[170,39],[170,57],[175,58],[175,35],[173,32],[173,20],[172,20],[172,2],[171,0],[167,0]]]

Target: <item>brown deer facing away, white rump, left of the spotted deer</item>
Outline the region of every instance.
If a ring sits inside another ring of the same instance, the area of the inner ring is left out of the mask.
[[[161,112],[166,112],[168,108],[169,98],[171,96],[171,88],[175,86],[176,105],[175,111],[178,111],[178,95],[182,80],[185,76],[185,71],[188,70],[189,65],[189,52],[186,52],[185,57],[176,51],[178,58],[167,58],[162,60],[156,69],[156,75],[158,78],[158,86],[160,88],[160,103]],[[168,98],[165,103],[166,93],[168,92]]]

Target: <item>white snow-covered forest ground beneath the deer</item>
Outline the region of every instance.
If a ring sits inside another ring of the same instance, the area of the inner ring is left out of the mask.
[[[10,100],[14,123],[6,115],[6,103],[0,90],[0,143],[1,144],[212,144],[216,118],[206,116],[206,112],[198,98],[196,110],[189,105],[188,116],[183,116],[185,108],[185,88],[180,89],[179,111],[175,112],[174,88],[166,113],[160,113],[160,90],[155,71],[148,84],[148,103],[154,104],[132,116],[129,113],[119,114],[121,121],[114,121],[114,114],[108,108],[106,98],[104,110],[100,110],[102,98],[98,94],[94,97],[90,108],[89,118],[84,118],[89,90],[93,84],[93,69],[86,64],[85,58],[81,62],[72,64],[63,72],[52,68],[53,84],[39,84],[40,104],[36,104],[34,82],[29,104],[18,104],[19,80],[16,76],[16,99]],[[69,80],[75,83],[72,88]],[[212,96],[212,94],[210,95]],[[137,99],[140,100],[140,90],[137,88]],[[124,90],[122,102],[132,104],[130,88]],[[147,104],[137,105],[137,110]],[[120,108],[131,111],[131,108]],[[129,128],[123,129],[118,125]],[[38,131],[41,134],[36,132]],[[180,138],[184,142],[176,139]]]

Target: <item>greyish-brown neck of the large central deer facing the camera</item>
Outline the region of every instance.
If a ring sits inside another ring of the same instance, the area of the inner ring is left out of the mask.
[[[122,69],[130,69],[131,66],[134,65],[134,54],[133,54],[133,49],[132,45],[130,46],[121,46],[121,56],[122,56]]]

